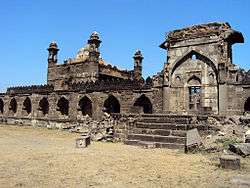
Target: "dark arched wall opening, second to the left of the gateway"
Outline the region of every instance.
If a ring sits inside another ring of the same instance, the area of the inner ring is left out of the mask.
[[[118,99],[113,96],[110,95],[103,104],[103,107],[105,108],[105,111],[107,113],[120,113],[120,103],[118,101]]]

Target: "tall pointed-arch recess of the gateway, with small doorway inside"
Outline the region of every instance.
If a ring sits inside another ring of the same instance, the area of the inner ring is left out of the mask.
[[[218,113],[218,70],[203,50],[191,50],[176,58],[167,74],[170,85],[164,95],[166,109],[175,113]]]

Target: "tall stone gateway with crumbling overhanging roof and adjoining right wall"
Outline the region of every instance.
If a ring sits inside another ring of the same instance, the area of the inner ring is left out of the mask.
[[[232,63],[232,45],[244,38],[228,23],[209,23],[172,31],[160,47],[164,67],[163,111],[242,114],[250,97],[247,73]],[[239,79],[240,78],[240,79]]]

